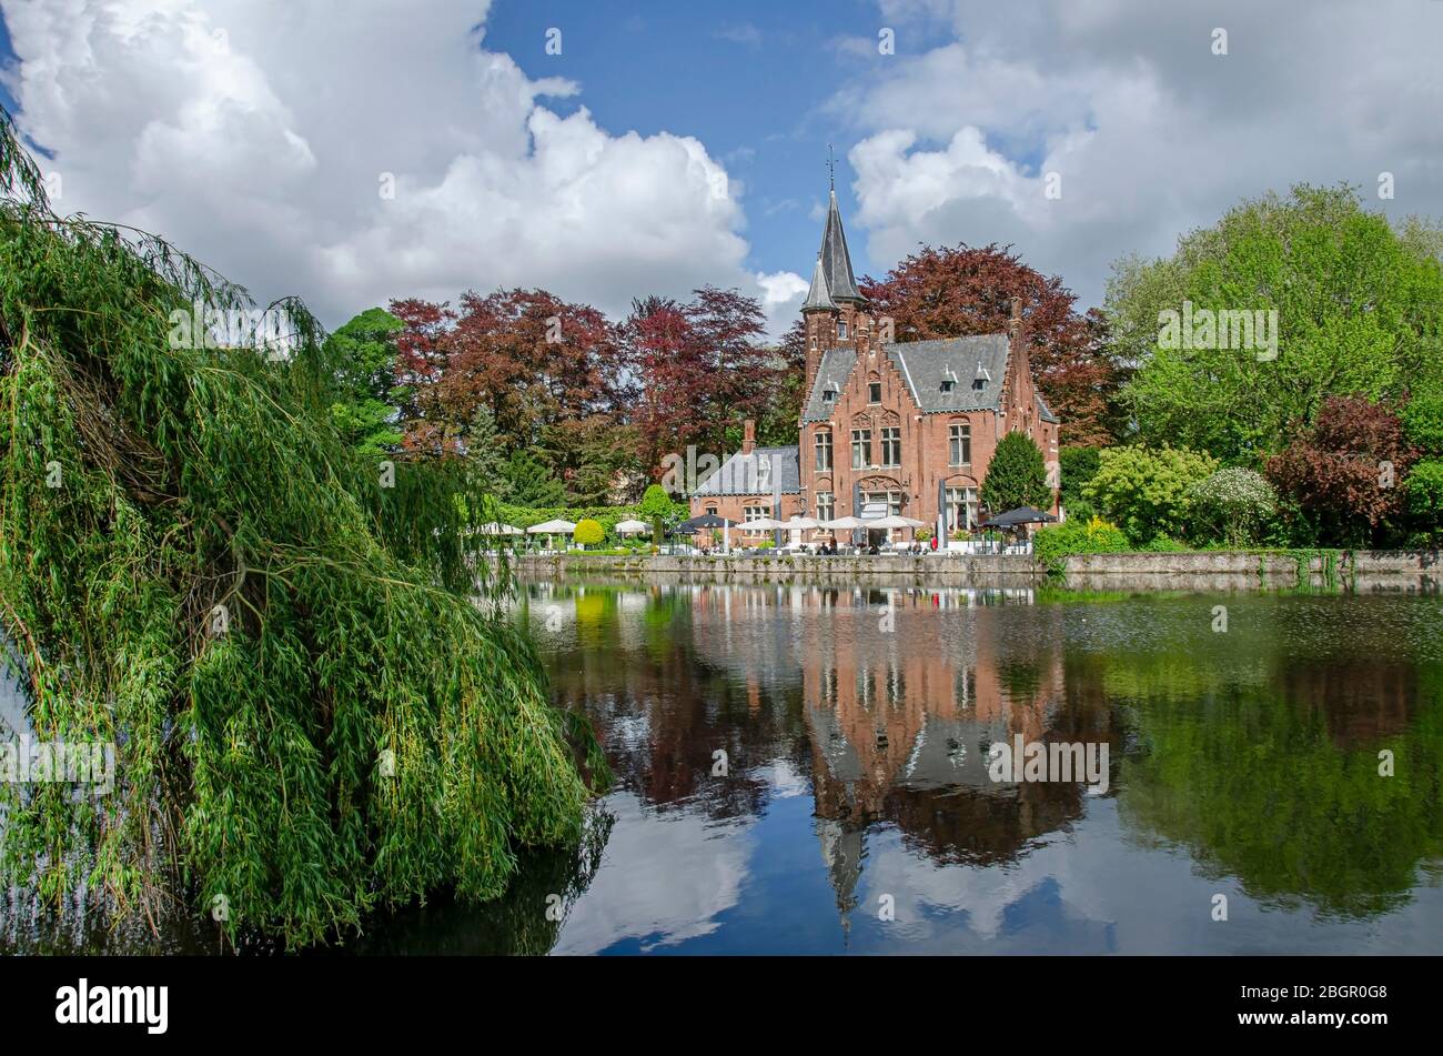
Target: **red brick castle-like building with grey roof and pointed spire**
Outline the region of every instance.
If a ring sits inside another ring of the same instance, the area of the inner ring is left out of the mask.
[[[1007,333],[895,342],[890,320],[874,317],[857,289],[833,192],[801,312],[807,397],[798,446],[756,447],[747,421],[742,450],[691,495],[693,516],[900,514],[935,531],[942,514],[948,535],[968,531],[981,521],[997,441],[1019,430],[1042,449],[1058,512],[1058,418],[1032,379],[1020,299]]]

